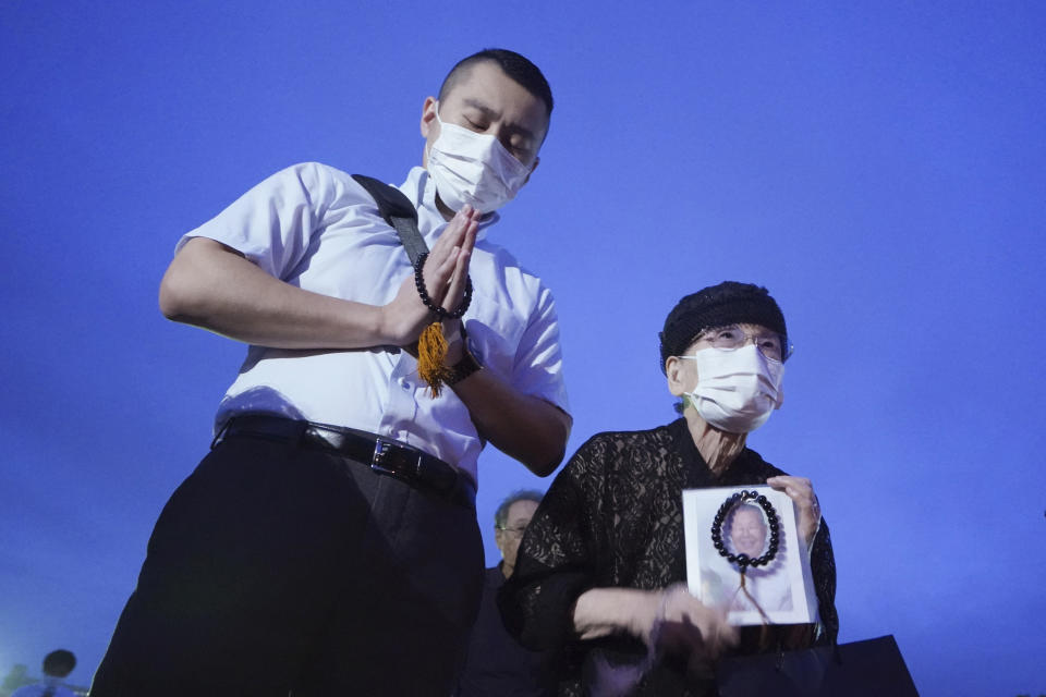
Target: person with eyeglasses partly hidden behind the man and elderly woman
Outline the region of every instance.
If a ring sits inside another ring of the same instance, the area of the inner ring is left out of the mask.
[[[479,615],[472,628],[454,697],[551,697],[555,694],[549,682],[555,657],[521,646],[504,628],[497,606],[498,590],[515,570],[520,541],[540,502],[540,491],[522,489],[506,497],[494,513],[494,540],[501,552],[501,562],[484,575]]]

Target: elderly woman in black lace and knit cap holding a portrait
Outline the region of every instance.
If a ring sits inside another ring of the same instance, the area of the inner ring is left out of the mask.
[[[739,633],[722,609],[679,585],[686,579],[683,489],[766,484],[796,506],[820,621],[745,628],[733,650],[835,641],[835,562],[810,480],[745,448],[747,433],[781,404],[787,337],[764,288],[727,281],[688,295],[660,334],[661,367],[682,398],[682,418],[599,433],[552,482],[500,602],[524,645],[560,649],[559,695],[600,692],[597,682],[630,667],[628,694],[715,694],[709,662]]]

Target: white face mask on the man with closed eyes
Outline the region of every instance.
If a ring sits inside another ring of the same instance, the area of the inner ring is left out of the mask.
[[[447,207],[458,211],[469,204],[488,213],[512,200],[532,168],[512,157],[492,135],[443,123],[438,111],[436,121],[439,136],[428,149],[427,169]]]

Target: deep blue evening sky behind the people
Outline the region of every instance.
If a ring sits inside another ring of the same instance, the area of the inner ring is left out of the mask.
[[[243,356],[156,307],[174,243],[319,160],[400,182],[459,58],[557,100],[491,241],[554,289],[574,415],[673,417],[657,331],[725,279],[795,356],[750,439],[808,476],[841,639],[924,695],[1046,693],[1046,9],[1034,2],[0,4],[0,674],[89,681]],[[481,458],[478,514],[544,488]]]

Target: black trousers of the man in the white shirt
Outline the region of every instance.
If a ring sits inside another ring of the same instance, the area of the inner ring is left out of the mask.
[[[446,697],[483,568],[474,510],[232,438],[160,514],[90,695]]]

